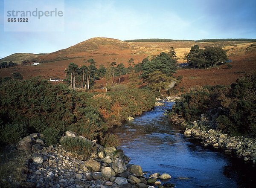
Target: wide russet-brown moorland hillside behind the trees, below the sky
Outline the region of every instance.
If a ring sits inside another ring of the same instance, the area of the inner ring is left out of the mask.
[[[43,78],[65,78],[64,70],[68,64],[74,62],[79,65],[88,65],[85,63],[89,58],[96,61],[96,67],[100,64],[107,66],[108,62],[115,61],[117,64],[124,63],[128,67],[127,61],[134,58],[135,64],[141,62],[143,58],[152,58],[160,52],[168,52],[170,46],[175,47],[178,62],[182,63],[184,54],[188,53],[192,46],[199,45],[200,48],[205,46],[220,46],[227,51],[228,58],[233,60],[232,69],[227,69],[226,65],[219,69],[182,69],[175,76],[183,75],[184,81],[180,87],[190,88],[195,85],[213,85],[213,84],[231,84],[243,75],[237,72],[256,71],[256,43],[232,41],[232,42],[202,42],[193,41],[182,42],[123,42],[112,38],[91,38],[46,55],[40,55],[38,66],[16,66],[6,69],[0,69],[0,76],[12,76],[13,72],[20,72],[23,78],[42,76]],[[15,57],[15,54],[10,56]],[[9,58],[10,58],[9,57]],[[21,55],[17,55],[21,57]],[[7,59],[7,57],[6,57]],[[26,58],[23,58],[23,60]],[[6,60],[7,61],[7,60]],[[8,61],[13,61],[8,59]],[[43,63],[42,63],[43,62]],[[236,72],[236,73],[234,73]],[[127,81],[125,82],[127,83]]]

